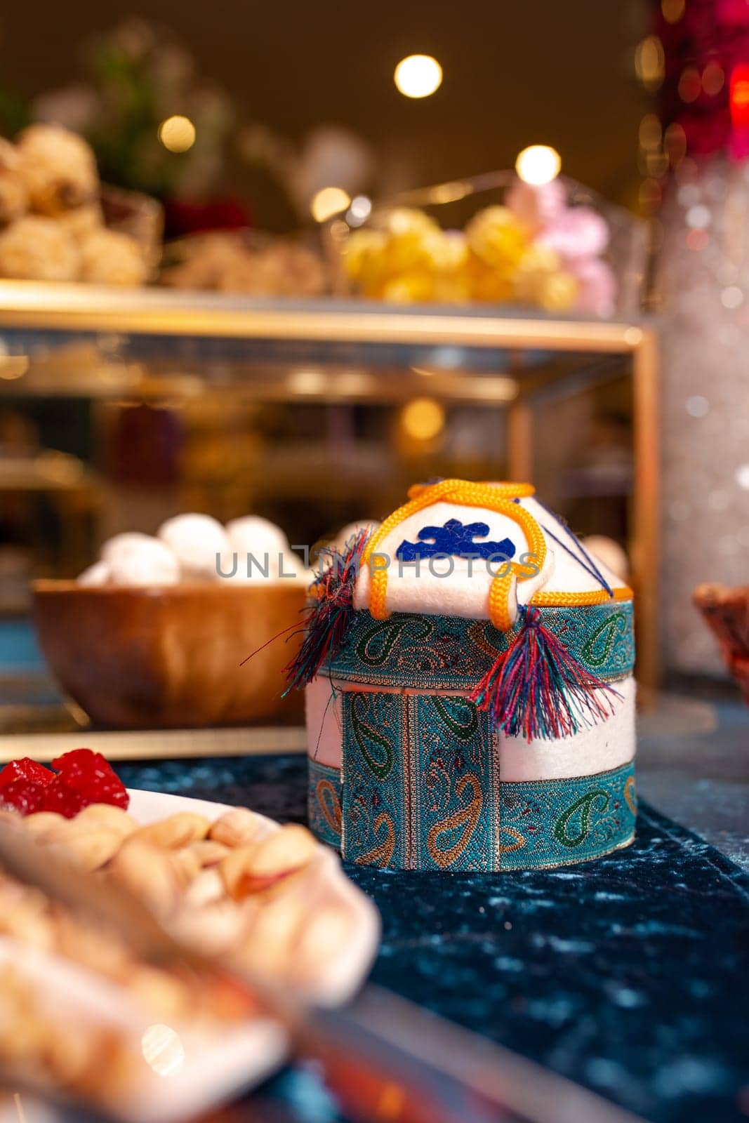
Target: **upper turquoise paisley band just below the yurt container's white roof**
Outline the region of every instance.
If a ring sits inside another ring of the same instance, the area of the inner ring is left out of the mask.
[[[631,601],[539,612],[542,623],[599,678],[611,682],[632,673]],[[469,690],[517,634],[518,628],[501,632],[488,620],[404,612],[373,620],[366,611],[355,612],[328,673],[367,686]]]

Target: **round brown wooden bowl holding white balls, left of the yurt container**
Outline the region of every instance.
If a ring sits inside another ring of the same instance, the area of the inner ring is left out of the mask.
[[[304,600],[296,581],[152,588],[38,581],[34,619],[55,677],[95,724],[243,725],[302,707],[295,693],[281,695],[282,668],[301,642],[284,629],[301,628]]]

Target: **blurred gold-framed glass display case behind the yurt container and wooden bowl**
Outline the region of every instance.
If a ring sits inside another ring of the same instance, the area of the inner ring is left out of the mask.
[[[179,510],[252,510],[314,542],[417,480],[531,480],[575,530],[625,546],[639,678],[656,684],[641,319],[0,282],[0,338],[6,612],[24,610],[22,577],[74,576],[108,535]]]

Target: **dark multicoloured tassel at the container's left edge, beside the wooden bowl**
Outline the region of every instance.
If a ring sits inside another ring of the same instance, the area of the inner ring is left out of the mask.
[[[344,554],[325,550],[329,564],[310,586],[314,604],[308,609],[302,646],[284,667],[289,684],[284,694],[311,683],[320,667],[340,651],[354,612],[354,585],[367,537],[366,530],[359,530]]]

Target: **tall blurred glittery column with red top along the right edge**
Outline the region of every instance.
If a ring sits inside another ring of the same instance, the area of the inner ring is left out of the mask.
[[[659,110],[674,167],[656,268],[665,652],[677,670],[721,674],[692,594],[703,582],[747,582],[749,3],[664,0],[656,30],[664,48]]]

